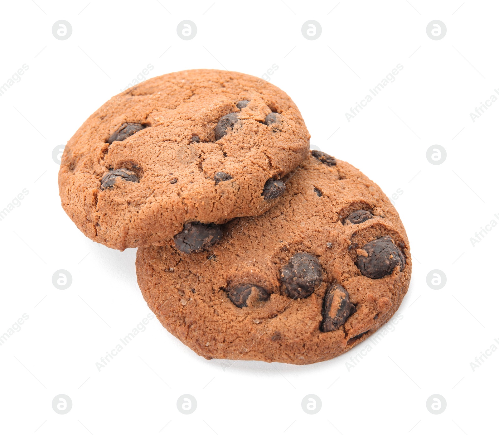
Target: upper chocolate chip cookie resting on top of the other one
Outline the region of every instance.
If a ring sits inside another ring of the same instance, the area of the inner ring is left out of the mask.
[[[165,74],[111,98],[69,140],[61,204],[106,246],[165,245],[186,222],[266,212],[265,183],[300,164],[309,138],[291,99],[257,77]]]

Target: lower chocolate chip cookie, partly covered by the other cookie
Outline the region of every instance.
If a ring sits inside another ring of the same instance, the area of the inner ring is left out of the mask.
[[[318,151],[283,181],[273,208],[226,223],[203,252],[173,242],[137,251],[150,309],[207,359],[328,360],[385,324],[407,293],[407,235],[375,183]]]

